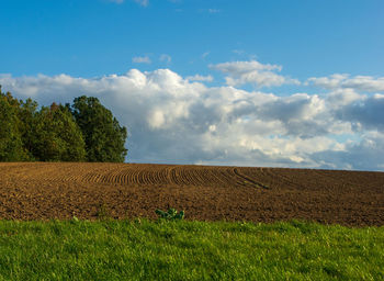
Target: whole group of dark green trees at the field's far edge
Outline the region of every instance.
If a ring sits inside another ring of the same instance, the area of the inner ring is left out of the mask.
[[[0,161],[123,162],[126,127],[99,99],[38,106],[0,86]]]

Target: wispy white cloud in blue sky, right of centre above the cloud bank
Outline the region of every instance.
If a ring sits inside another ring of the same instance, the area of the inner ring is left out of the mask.
[[[284,83],[300,85],[296,79],[278,75],[275,71],[281,71],[281,66],[263,65],[257,60],[223,63],[210,65],[210,68],[226,74],[226,83],[233,87],[246,83],[255,85],[258,88],[282,86]]]

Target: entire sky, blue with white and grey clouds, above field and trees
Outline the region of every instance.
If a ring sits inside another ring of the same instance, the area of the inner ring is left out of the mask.
[[[0,85],[97,97],[127,162],[384,171],[382,0],[0,0]]]

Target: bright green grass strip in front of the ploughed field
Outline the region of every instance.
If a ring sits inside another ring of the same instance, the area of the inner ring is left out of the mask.
[[[384,280],[384,227],[0,221],[0,280]]]

